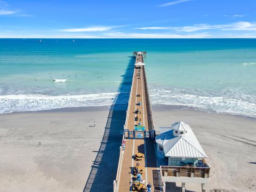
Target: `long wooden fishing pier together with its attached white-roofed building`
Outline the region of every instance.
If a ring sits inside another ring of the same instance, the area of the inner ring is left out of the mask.
[[[173,124],[170,131],[166,132],[167,136],[161,135],[159,131],[155,130],[143,60],[143,57],[146,57],[146,52],[134,51],[133,57],[136,57],[136,60],[126,121],[121,131],[123,139],[116,179],[113,182],[114,192],[147,191],[146,186],[149,183],[151,191],[165,191],[166,182],[182,182],[181,191],[185,191],[186,182],[201,183],[202,191],[205,191],[205,183],[209,182],[210,167],[203,159],[206,157],[203,149],[194,137],[193,131],[182,130],[182,126],[185,126],[183,122]],[[190,129],[188,125],[186,126]],[[175,153],[183,151],[186,154],[166,156],[170,151],[164,152],[167,148],[164,143],[161,143],[161,137],[170,138],[166,140],[166,142],[170,142],[168,150],[175,150]],[[194,149],[190,146],[184,148],[185,145],[177,148],[176,142],[172,141],[174,139],[186,142],[186,139],[189,138],[196,143],[197,148]],[[187,154],[189,149],[202,156]]]

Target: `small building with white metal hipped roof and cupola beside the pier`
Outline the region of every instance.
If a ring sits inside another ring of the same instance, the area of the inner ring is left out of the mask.
[[[160,166],[161,179],[165,182],[209,182],[210,167],[204,158],[206,154],[189,125],[183,122],[172,124],[169,129],[156,136],[158,158],[167,159],[167,166]]]

